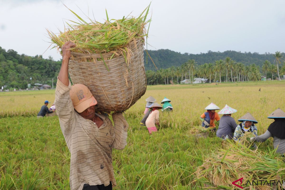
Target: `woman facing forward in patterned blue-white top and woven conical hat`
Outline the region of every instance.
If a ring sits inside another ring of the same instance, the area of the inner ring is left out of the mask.
[[[255,136],[257,136],[257,127],[255,126],[255,124],[257,124],[258,122],[250,113],[246,113],[238,121],[240,121],[241,123],[237,125],[237,128],[235,128],[233,140],[239,141],[239,138],[241,138],[245,134],[245,132],[251,132]]]

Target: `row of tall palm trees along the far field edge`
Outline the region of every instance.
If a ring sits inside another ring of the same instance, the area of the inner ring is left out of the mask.
[[[280,80],[278,66],[281,64],[282,56],[280,52],[276,52],[274,57],[274,64],[266,60],[261,70],[255,64],[245,66],[229,57],[226,57],[225,60],[217,60],[215,63],[205,63],[200,66],[196,65],[195,60],[188,60],[180,67],[172,66],[168,69],[146,71],[147,83],[148,85],[169,84],[170,79],[175,83],[189,79],[193,83],[196,77],[208,79],[209,82],[257,81],[261,79],[260,71],[264,72],[265,78],[270,73],[272,79],[276,73],[276,77]],[[280,73],[285,75],[285,64],[280,68]]]

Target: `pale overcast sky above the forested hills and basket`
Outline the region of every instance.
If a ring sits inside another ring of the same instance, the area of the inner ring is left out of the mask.
[[[46,29],[64,30],[65,19],[75,20],[63,3],[97,21],[139,15],[150,3],[141,0],[0,0],[0,46],[19,54],[42,54],[50,45]],[[80,10],[79,8],[82,10]],[[148,49],[200,54],[211,51],[285,52],[284,0],[153,0]],[[55,50],[43,57],[61,58]]]

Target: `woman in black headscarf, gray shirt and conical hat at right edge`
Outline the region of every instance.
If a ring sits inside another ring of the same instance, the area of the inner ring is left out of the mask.
[[[277,148],[276,152],[285,154],[285,112],[280,108],[272,112],[267,118],[274,119],[262,135],[252,137],[251,141],[264,142],[269,137],[273,137],[273,146]]]

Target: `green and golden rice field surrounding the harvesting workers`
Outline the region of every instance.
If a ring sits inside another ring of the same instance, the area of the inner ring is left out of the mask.
[[[115,189],[205,189],[203,180],[207,179],[198,180],[197,170],[203,173],[200,166],[223,153],[227,142],[214,135],[196,139],[189,134],[200,124],[204,108],[211,102],[220,108],[228,104],[238,110],[232,115],[236,121],[250,112],[262,134],[272,122],[267,116],[277,108],[285,111],[284,86],[285,81],[148,86],[145,95],[125,112],[128,145],[113,150]],[[150,95],[158,103],[166,96],[174,107],[172,113],[160,112],[158,132],[152,135],[139,125]],[[54,101],[54,90],[0,93],[1,190],[69,189],[70,152],[58,118],[35,117],[45,100]],[[271,138],[258,144],[256,154],[274,157],[273,150]],[[284,168],[282,162],[270,166],[276,167],[271,169],[274,172]],[[285,180],[282,173],[280,179]]]

